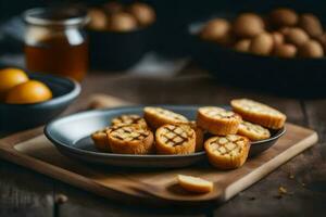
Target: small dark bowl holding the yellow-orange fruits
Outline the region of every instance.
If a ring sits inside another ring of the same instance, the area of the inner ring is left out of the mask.
[[[68,78],[45,74],[28,74],[29,78],[45,82],[53,99],[34,104],[0,103],[0,130],[18,131],[47,124],[62,113],[80,93],[78,82]]]

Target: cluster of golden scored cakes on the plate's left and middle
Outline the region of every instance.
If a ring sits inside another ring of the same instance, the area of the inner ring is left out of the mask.
[[[203,132],[185,116],[145,107],[143,117],[122,115],[91,138],[98,150],[120,154],[190,154],[202,150]]]

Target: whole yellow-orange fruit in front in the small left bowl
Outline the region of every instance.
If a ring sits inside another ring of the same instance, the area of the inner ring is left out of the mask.
[[[52,98],[51,90],[42,82],[29,80],[12,88],[5,98],[7,103],[27,104],[50,100]]]

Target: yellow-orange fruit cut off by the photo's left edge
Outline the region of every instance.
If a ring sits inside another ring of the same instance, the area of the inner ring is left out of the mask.
[[[11,88],[26,82],[27,80],[28,76],[20,68],[0,69],[0,99],[3,99]]]

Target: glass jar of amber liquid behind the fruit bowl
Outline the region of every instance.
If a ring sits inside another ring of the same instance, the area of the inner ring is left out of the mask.
[[[25,62],[30,72],[82,80],[88,66],[84,25],[77,9],[32,9],[25,12]]]

